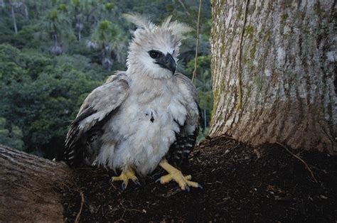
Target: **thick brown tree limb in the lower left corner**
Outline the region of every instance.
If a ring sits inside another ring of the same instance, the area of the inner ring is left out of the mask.
[[[0,146],[0,222],[63,222],[55,188],[71,175],[63,163]]]

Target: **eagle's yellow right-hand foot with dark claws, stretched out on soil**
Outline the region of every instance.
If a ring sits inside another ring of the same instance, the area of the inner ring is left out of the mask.
[[[160,180],[160,183],[169,183],[171,180],[174,180],[176,181],[176,183],[178,183],[179,187],[181,187],[181,190],[187,191],[190,190],[190,187],[200,187],[201,189],[203,188],[200,184],[190,181],[192,178],[191,175],[184,176],[180,170],[174,168],[173,165],[170,165],[166,160],[161,161],[159,165],[161,166],[161,168],[169,172],[168,175],[164,175],[158,179],[158,181]]]

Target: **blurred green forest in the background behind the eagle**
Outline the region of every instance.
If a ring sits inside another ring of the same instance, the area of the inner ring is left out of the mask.
[[[130,29],[123,13],[146,13],[196,28],[198,1],[0,0],[0,144],[60,156],[83,99],[115,70],[126,70]],[[210,2],[203,1],[196,87],[207,129],[212,108]],[[181,48],[178,71],[191,77],[196,31]],[[201,133],[200,138],[203,138]]]

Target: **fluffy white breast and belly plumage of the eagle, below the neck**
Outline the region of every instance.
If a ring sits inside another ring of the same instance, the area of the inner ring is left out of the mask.
[[[156,168],[176,141],[180,129],[173,120],[183,124],[186,109],[173,95],[173,89],[160,87],[166,91],[159,93],[152,90],[151,85],[148,88],[142,90],[141,96],[146,98],[146,92],[151,101],[140,100],[138,92],[131,91],[119,112],[103,127],[104,142],[98,158],[101,165],[112,169],[131,165],[138,173],[146,175]],[[151,97],[153,95],[156,97]]]

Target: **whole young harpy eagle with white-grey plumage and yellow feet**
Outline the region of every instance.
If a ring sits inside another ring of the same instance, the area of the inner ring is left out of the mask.
[[[65,140],[65,161],[122,170],[112,181],[139,183],[159,165],[182,190],[201,187],[170,163],[186,160],[195,146],[200,121],[198,94],[176,72],[183,34],[191,28],[171,21],[160,25],[128,14],[137,26],[129,44],[127,71],[118,71],[85,99]]]

